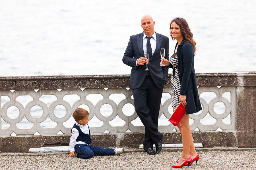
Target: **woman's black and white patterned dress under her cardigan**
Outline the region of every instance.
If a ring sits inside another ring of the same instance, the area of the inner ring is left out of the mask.
[[[179,81],[179,74],[178,74],[178,58],[177,58],[177,52],[174,53],[171,57],[170,57],[170,62],[173,65],[173,72],[174,74],[172,74],[172,79],[171,79],[171,83],[172,83],[172,107],[176,108],[179,103],[180,103],[180,81]],[[174,75],[174,77],[173,77]]]

